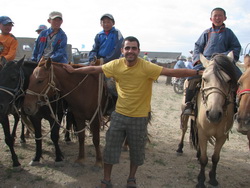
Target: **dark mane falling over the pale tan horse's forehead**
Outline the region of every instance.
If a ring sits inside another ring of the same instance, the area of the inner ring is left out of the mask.
[[[225,80],[220,73],[220,70],[222,70],[231,78],[232,87],[236,88],[238,79],[236,74],[236,66],[234,63],[229,59],[228,56],[224,54],[215,54],[212,58],[215,62],[213,71],[219,82],[221,82],[223,85],[225,84]]]

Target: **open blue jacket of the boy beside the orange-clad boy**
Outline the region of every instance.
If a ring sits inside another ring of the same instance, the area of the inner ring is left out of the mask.
[[[35,42],[35,49],[32,54],[32,61],[39,62],[46,48],[47,37],[53,32],[52,28],[43,30]],[[58,63],[68,63],[67,56],[67,36],[62,29],[56,34],[53,42],[53,52],[50,57],[52,61]]]

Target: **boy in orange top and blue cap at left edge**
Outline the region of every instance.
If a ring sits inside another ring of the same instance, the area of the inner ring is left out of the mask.
[[[0,16],[0,57],[12,61],[16,57],[17,39],[10,33],[14,22],[8,16]]]

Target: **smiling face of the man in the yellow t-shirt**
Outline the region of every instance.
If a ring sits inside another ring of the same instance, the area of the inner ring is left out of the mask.
[[[122,54],[126,58],[128,62],[133,62],[137,59],[140,53],[140,49],[138,48],[138,44],[136,41],[130,42],[125,41],[124,47],[122,48]]]

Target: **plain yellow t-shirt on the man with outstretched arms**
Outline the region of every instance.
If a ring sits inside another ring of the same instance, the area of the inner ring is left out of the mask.
[[[129,117],[147,117],[151,110],[153,81],[160,76],[162,67],[142,58],[128,67],[125,58],[120,58],[104,64],[102,69],[106,77],[116,81],[116,112]]]

